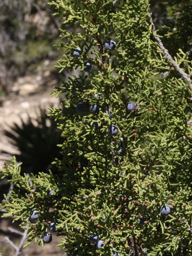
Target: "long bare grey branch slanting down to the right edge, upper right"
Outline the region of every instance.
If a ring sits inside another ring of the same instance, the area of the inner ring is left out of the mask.
[[[150,15],[151,15],[151,12],[149,11],[148,12]],[[166,59],[170,62],[172,62],[175,70],[177,70],[177,72],[183,77],[183,79],[186,81],[186,83],[189,84],[189,89],[192,91],[192,83],[191,83],[191,80],[189,78],[189,76],[184,72],[182,71],[182,69],[177,65],[177,63],[175,62],[175,60],[172,58],[172,56],[170,56],[170,54],[168,53],[168,51],[165,49],[165,47],[163,46],[163,43],[161,41],[161,39],[159,38],[158,34],[157,34],[157,31],[156,31],[156,28],[155,28],[155,25],[153,23],[153,19],[151,17],[151,25],[152,25],[152,30],[155,34],[155,39],[157,40],[158,42],[158,45],[159,45],[159,48],[161,49],[162,53],[165,55]]]

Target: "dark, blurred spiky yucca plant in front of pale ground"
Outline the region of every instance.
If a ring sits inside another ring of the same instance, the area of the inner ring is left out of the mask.
[[[22,173],[38,174],[42,170],[56,171],[52,162],[59,157],[59,147],[63,139],[54,119],[49,119],[45,108],[37,110],[37,117],[28,115],[20,119],[21,124],[14,122],[3,131],[4,136],[19,151],[17,162],[22,162]],[[11,154],[3,151],[3,153]]]

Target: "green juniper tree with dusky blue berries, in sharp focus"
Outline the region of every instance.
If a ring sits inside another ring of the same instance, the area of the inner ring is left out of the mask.
[[[27,245],[50,242],[56,223],[69,255],[192,255],[187,53],[165,50],[147,0],[50,5],[66,25],[57,68],[71,72],[52,93],[66,96],[50,114],[65,139],[60,175],[20,176],[15,159],[5,163],[15,188],[4,217],[29,223]]]

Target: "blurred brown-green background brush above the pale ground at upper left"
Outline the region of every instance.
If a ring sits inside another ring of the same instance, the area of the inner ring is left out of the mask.
[[[48,2],[0,1],[0,90],[6,94],[13,81],[43,68],[45,60],[50,63],[46,69],[55,72],[53,66],[61,53],[52,46],[59,41],[62,24],[59,16],[52,15]]]

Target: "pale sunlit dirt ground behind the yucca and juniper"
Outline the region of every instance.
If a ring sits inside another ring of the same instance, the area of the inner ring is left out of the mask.
[[[10,126],[13,122],[19,123],[20,118],[24,120],[28,115],[35,117],[39,105],[47,106],[49,103],[53,106],[59,105],[59,99],[51,97],[50,93],[54,86],[57,86],[57,80],[45,74],[44,77],[23,77],[13,85],[13,93],[9,96],[0,98],[0,168],[4,165],[4,160],[10,161],[11,155],[2,154],[2,150],[11,153],[16,153],[14,148],[6,137],[3,136],[2,130]],[[1,186],[0,186],[1,189]],[[2,192],[2,191],[1,191]],[[18,223],[12,224],[10,218],[0,218],[0,252],[3,256],[14,256],[15,249],[6,243],[5,237],[8,237],[14,244],[18,245],[21,237],[18,234],[13,234],[10,228],[20,230]],[[22,230],[20,230],[22,231]],[[53,241],[50,244],[45,244],[42,248],[37,243],[32,243],[26,247],[21,256],[64,256],[63,250],[57,247],[60,243],[61,237],[53,234]],[[27,240],[24,244],[27,243]]]

